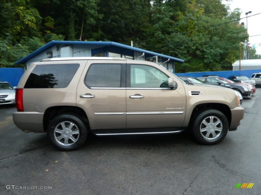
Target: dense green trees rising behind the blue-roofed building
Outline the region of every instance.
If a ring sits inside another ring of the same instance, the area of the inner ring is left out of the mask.
[[[176,72],[229,70],[248,36],[239,18],[222,0],[2,0],[0,67],[51,40],[79,40],[133,41],[184,59]]]

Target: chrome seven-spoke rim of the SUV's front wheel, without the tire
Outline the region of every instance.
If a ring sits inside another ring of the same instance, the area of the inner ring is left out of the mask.
[[[216,139],[220,136],[222,129],[222,122],[216,116],[208,116],[200,124],[200,133],[206,140]]]

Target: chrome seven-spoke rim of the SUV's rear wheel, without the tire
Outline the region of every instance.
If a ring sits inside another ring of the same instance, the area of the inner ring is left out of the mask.
[[[64,146],[74,144],[79,139],[79,136],[78,127],[70,121],[63,121],[54,129],[55,140]]]

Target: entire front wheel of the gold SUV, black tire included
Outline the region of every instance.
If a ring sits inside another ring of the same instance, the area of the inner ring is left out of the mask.
[[[219,110],[209,109],[195,117],[192,124],[193,136],[203,145],[214,145],[221,142],[229,128],[226,116]]]

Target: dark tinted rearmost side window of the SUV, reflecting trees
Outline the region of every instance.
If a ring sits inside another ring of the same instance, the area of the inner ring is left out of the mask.
[[[24,88],[65,88],[80,64],[41,64],[35,66]]]

